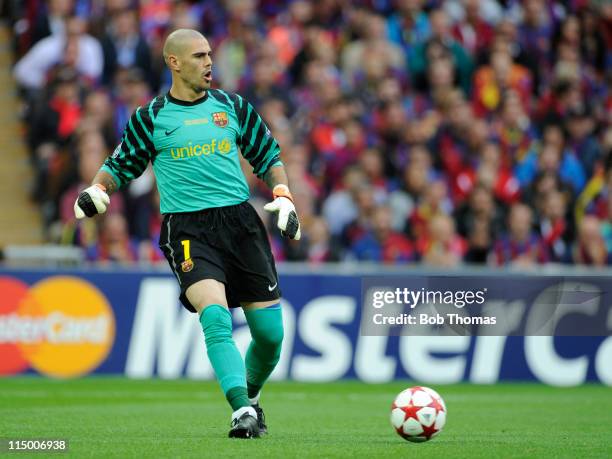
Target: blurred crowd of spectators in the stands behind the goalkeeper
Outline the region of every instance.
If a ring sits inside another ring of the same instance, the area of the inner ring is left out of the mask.
[[[213,48],[282,148],[303,239],[279,261],[612,264],[612,3],[605,0],[25,0],[13,74],[50,241],[151,263],[151,170],[107,215],[72,205],[131,113],[167,92],[177,28]]]

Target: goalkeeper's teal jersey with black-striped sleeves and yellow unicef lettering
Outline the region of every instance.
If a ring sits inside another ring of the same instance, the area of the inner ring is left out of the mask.
[[[121,187],[151,161],[161,213],[193,212],[249,199],[238,149],[259,178],[281,164],[278,143],[239,95],[210,89],[186,102],[168,93],[134,112],[101,170]]]

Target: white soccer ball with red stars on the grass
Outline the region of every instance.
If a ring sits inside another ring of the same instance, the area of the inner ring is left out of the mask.
[[[391,425],[404,440],[424,442],[446,423],[446,405],[429,387],[415,386],[398,394],[391,405]]]

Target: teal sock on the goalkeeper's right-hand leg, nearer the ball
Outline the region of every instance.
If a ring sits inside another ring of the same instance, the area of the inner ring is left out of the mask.
[[[247,389],[257,396],[280,359],[283,342],[283,315],[280,303],[245,311],[253,340],[246,354]]]

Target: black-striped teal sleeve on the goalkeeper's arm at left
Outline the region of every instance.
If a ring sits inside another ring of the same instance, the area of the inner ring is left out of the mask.
[[[153,145],[152,104],[139,107],[130,117],[123,131],[121,143],[102,166],[113,176],[117,187],[140,177],[147,164],[155,157]]]

